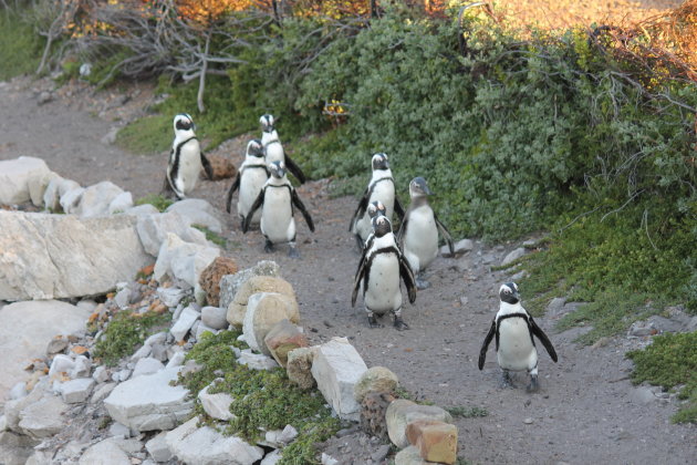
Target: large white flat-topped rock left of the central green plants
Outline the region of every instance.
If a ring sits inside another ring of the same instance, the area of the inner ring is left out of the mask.
[[[112,391],[104,406],[115,421],[135,431],[170,430],[193,410],[188,391],[173,386],[179,369],[133,378]]]

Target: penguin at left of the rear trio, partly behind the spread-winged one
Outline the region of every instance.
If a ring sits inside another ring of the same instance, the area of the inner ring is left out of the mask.
[[[232,194],[239,189],[239,198],[237,200],[237,214],[243,221],[245,217],[249,214],[253,202],[259,196],[259,193],[263,188],[263,185],[269,179],[269,168],[263,159],[263,148],[261,147],[261,141],[253,138],[247,144],[247,154],[245,155],[245,162],[237,172],[237,178],[228,190],[228,197],[226,200],[226,209],[230,213],[232,206]],[[254,213],[251,218],[251,225],[259,225],[261,220],[261,211]]]

